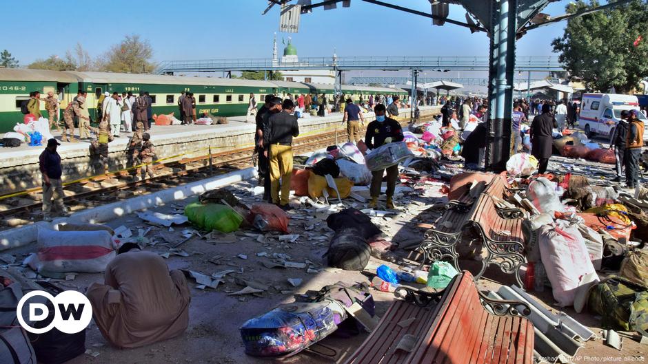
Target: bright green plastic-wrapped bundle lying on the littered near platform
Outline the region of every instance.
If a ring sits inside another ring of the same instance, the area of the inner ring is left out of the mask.
[[[231,233],[239,230],[243,217],[229,206],[221,204],[201,204],[194,202],[185,207],[185,215],[189,221],[200,226],[205,231],[217,230]]]

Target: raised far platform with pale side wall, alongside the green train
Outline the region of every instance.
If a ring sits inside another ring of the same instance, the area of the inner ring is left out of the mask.
[[[421,117],[436,115],[441,106],[419,107]],[[409,118],[409,109],[399,110],[401,117]],[[374,120],[374,113],[363,114],[365,121]],[[336,129],[342,130],[343,114],[310,116],[299,119],[300,136],[314,136]],[[156,160],[169,162],[183,158],[205,156],[211,148],[212,154],[234,151],[254,146],[254,122],[245,122],[245,116],[227,118],[224,125],[169,125],[152,127],[151,141],[154,144]],[[54,138],[61,135],[54,131]],[[78,136],[78,131],[76,131]],[[128,142],[132,133],[121,133],[110,142],[108,150],[109,170],[119,171],[128,167]],[[41,185],[38,159],[44,146],[29,147],[23,144],[16,148],[0,149],[0,195],[32,189]],[[101,175],[103,168],[96,158],[90,156],[90,140],[61,142],[58,148],[63,167],[63,182]],[[100,170],[101,169],[101,170]]]

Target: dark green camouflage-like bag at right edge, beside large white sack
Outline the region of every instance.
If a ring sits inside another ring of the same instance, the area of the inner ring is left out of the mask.
[[[648,330],[648,290],[631,281],[610,276],[589,292],[588,307],[600,314],[603,328]]]

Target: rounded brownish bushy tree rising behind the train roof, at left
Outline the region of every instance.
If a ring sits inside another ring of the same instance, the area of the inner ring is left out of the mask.
[[[146,73],[154,68],[152,56],[151,43],[137,34],[132,34],[99,57],[97,67],[101,71],[109,72]]]

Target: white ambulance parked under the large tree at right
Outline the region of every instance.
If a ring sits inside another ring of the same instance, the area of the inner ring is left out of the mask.
[[[637,96],[620,94],[583,94],[580,103],[578,126],[591,138],[594,134],[611,136],[616,124],[621,119],[622,110],[638,110]],[[648,125],[648,119],[639,113],[639,119]],[[648,140],[648,130],[643,134],[644,141]]]

